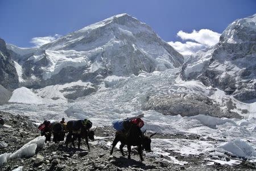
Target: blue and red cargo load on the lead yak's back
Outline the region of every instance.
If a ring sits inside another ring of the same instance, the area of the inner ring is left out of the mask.
[[[126,123],[130,122],[135,125],[137,125],[139,128],[142,128],[144,126],[144,122],[141,119],[144,116],[144,114],[138,115],[138,116],[133,116],[131,118],[126,118],[126,119],[117,119],[112,122],[113,127],[117,131],[123,131],[126,130]]]

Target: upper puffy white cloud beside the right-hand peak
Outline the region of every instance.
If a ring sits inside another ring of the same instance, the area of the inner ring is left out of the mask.
[[[191,33],[181,30],[177,33],[177,36],[179,36],[182,40],[194,40],[197,43],[207,46],[212,46],[218,43],[220,35],[221,34],[208,29],[201,29],[199,31],[193,30]]]

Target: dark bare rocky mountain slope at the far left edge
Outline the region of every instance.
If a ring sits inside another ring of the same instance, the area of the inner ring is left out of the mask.
[[[0,85],[6,89],[16,89],[19,85],[14,61],[11,60],[3,39],[0,39]]]

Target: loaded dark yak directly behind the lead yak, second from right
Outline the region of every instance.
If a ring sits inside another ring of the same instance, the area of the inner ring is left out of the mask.
[[[86,145],[88,147],[88,150],[90,149],[89,143],[88,143],[88,137],[90,140],[94,141],[94,131],[95,130],[89,130],[92,127],[92,122],[89,120],[69,120],[67,123],[67,139],[65,141],[66,147],[68,147],[68,144],[72,142],[73,147],[75,148],[75,140],[78,138],[78,148],[80,149],[80,143],[81,138],[84,138],[86,141]],[[73,137],[72,137],[73,136]]]

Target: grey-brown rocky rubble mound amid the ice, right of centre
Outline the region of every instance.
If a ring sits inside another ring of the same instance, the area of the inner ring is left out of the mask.
[[[145,110],[155,110],[164,115],[209,115],[213,117],[241,118],[236,112],[223,110],[213,99],[199,94],[172,94],[152,96],[148,99]]]

